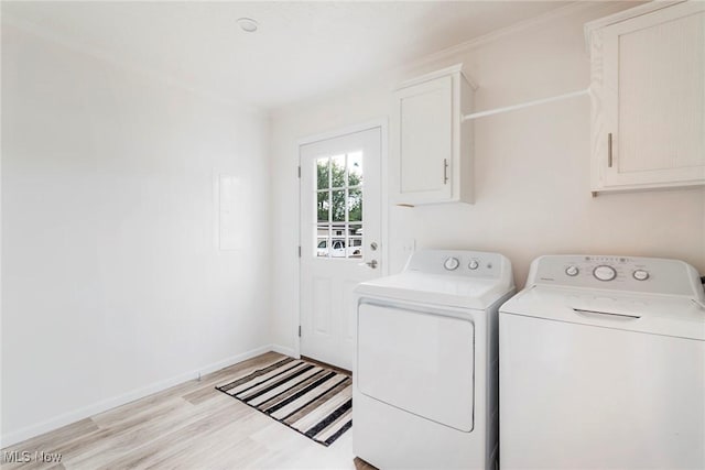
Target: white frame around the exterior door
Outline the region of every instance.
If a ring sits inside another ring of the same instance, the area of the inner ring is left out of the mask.
[[[327,132],[308,135],[296,141],[296,162],[299,168],[301,168],[301,147],[306,144],[315,143],[323,140],[335,139],[356,132],[368,131],[370,129],[379,128],[380,130],[380,244],[382,247],[381,256],[381,270],[380,275],[386,276],[389,274],[389,233],[388,233],[388,220],[389,220],[389,192],[388,192],[388,142],[389,142],[389,118],[378,118],[370,121],[366,121],[359,124],[346,125],[344,128],[337,128]],[[299,170],[301,172],[301,170]],[[297,247],[294,247],[296,253],[301,253],[301,176],[297,176],[299,185],[299,204],[296,205],[296,240]],[[301,325],[301,256],[296,254],[297,266],[296,270],[296,299],[295,299],[295,321],[293,324],[292,336],[294,338],[294,356],[301,358],[301,337],[299,336],[299,326]]]

